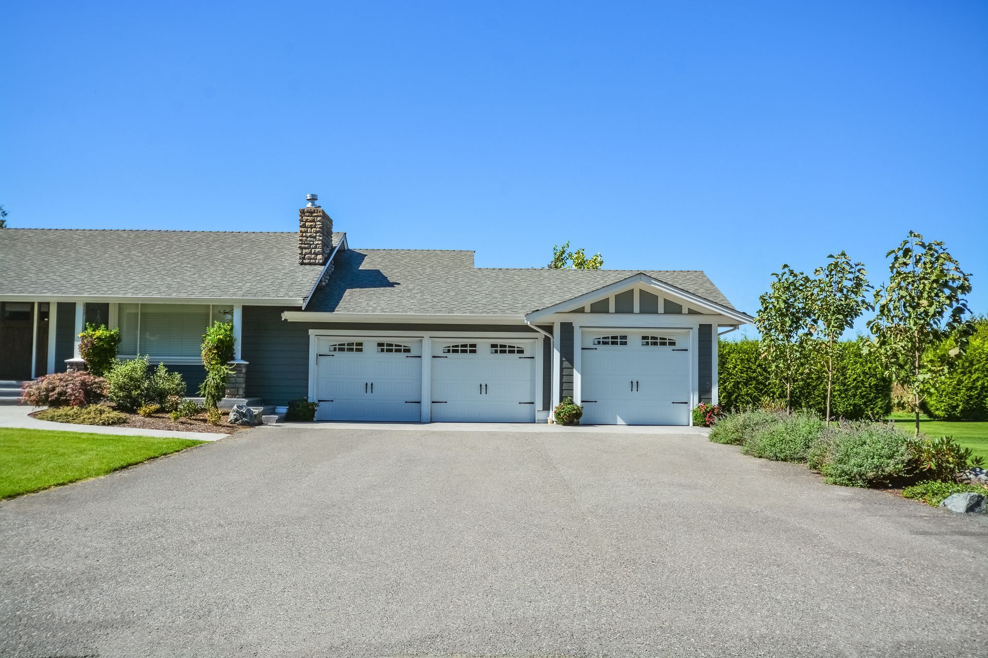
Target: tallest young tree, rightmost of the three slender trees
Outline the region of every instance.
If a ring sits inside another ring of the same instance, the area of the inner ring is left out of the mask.
[[[868,350],[877,354],[886,374],[909,392],[920,433],[920,402],[930,383],[961,354],[974,327],[965,320],[970,275],[947,252],[944,243],[925,242],[910,231],[888,254],[888,285],[874,292],[876,314],[868,322],[874,335]],[[924,358],[948,335],[955,345],[944,358]]]

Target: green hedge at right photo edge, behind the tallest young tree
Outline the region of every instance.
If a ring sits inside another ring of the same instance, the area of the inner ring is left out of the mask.
[[[953,339],[934,350],[932,358],[946,360],[947,374],[936,378],[923,410],[938,420],[988,420],[988,319],[975,323],[975,332],[960,356],[949,359]],[[910,406],[910,410],[912,406]]]

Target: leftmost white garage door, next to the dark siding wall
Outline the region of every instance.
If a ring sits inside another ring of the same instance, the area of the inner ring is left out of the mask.
[[[316,338],[317,420],[422,419],[422,341]]]

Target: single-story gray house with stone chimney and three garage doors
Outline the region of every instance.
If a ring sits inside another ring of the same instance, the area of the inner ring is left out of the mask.
[[[584,423],[688,425],[717,400],[718,332],[752,322],[701,271],[476,267],[353,248],[312,200],[298,219],[297,234],[0,230],[0,380],[84,367],[76,336],[101,323],[122,358],[195,391],[224,320],[227,396],[307,398],[318,419],[535,422],[571,397]]]

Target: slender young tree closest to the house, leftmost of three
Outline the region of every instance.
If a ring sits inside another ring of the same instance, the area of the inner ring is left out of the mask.
[[[785,390],[790,409],[792,386],[809,369],[809,348],[814,329],[810,318],[810,278],[786,264],[773,272],[769,291],[759,297],[755,327],[762,334],[760,348],[769,372]]]

